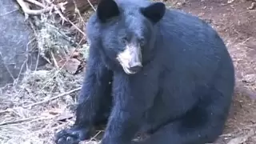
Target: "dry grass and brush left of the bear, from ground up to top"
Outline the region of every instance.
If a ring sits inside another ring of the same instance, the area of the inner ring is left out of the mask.
[[[37,2],[44,4],[44,7],[49,5],[47,2]],[[28,14],[31,14],[31,10]],[[87,57],[88,46],[82,42],[86,38],[81,29],[85,22],[83,18],[88,16],[80,15],[74,24],[64,18],[61,10],[57,10],[57,13],[49,10],[26,19],[34,30],[39,54],[49,64],[27,70],[24,78],[16,81],[18,85],[15,82],[1,88],[1,144],[53,143],[55,131],[73,123],[72,110],[83,74],[70,74],[70,70],[65,68],[74,53],[78,53],[76,57],[82,61]],[[69,26],[62,26],[63,19]],[[66,119],[66,122],[61,122],[62,119]]]

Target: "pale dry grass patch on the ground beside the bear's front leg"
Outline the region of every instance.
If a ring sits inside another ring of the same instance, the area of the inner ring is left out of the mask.
[[[69,91],[81,82],[82,75],[53,68],[27,72],[20,86],[3,88],[0,143],[50,143],[49,136],[63,125],[58,116],[74,106],[77,94]]]

